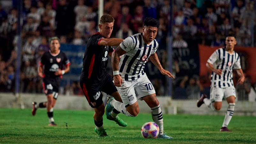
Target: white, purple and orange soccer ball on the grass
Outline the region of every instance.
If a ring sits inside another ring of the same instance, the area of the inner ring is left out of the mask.
[[[159,127],[154,122],[146,122],[141,128],[143,138],[157,138],[159,134]]]

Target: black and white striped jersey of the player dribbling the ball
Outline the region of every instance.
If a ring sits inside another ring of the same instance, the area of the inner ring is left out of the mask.
[[[123,80],[135,80],[145,74],[143,68],[151,54],[155,54],[158,48],[157,40],[152,40],[150,45],[143,41],[142,33],[127,37],[120,47],[127,53],[121,56],[119,72]]]

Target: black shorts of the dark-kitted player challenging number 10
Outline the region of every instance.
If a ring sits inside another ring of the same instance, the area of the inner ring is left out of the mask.
[[[84,92],[84,96],[92,108],[97,108],[103,103],[103,95],[101,91],[108,95],[117,91],[113,83],[113,78],[109,75],[107,75],[106,79],[96,87],[90,83],[84,83],[84,81],[80,81],[80,86]]]

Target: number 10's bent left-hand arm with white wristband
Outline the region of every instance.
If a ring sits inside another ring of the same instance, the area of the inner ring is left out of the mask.
[[[123,82],[122,77],[119,75],[118,65],[120,61],[120,56],[125,54],[126,51],[124,51],[120,46],[118,46],[115,51],[112,53],[112,69],[113,69],[113,76],[114,76],[114,85],[117,87],[121,86],[121,83]]]

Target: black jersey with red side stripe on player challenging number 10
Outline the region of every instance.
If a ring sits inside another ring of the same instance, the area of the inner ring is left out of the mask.
[[[114,51],[111,46],[100,46],[100,40],[104,39],[104,36],[99,32],[95,33],[89,39],[84,51],[83,69],[80,76],[80,80],[85,83],[97,85],[108,75],[107,62],[109,53]]]

